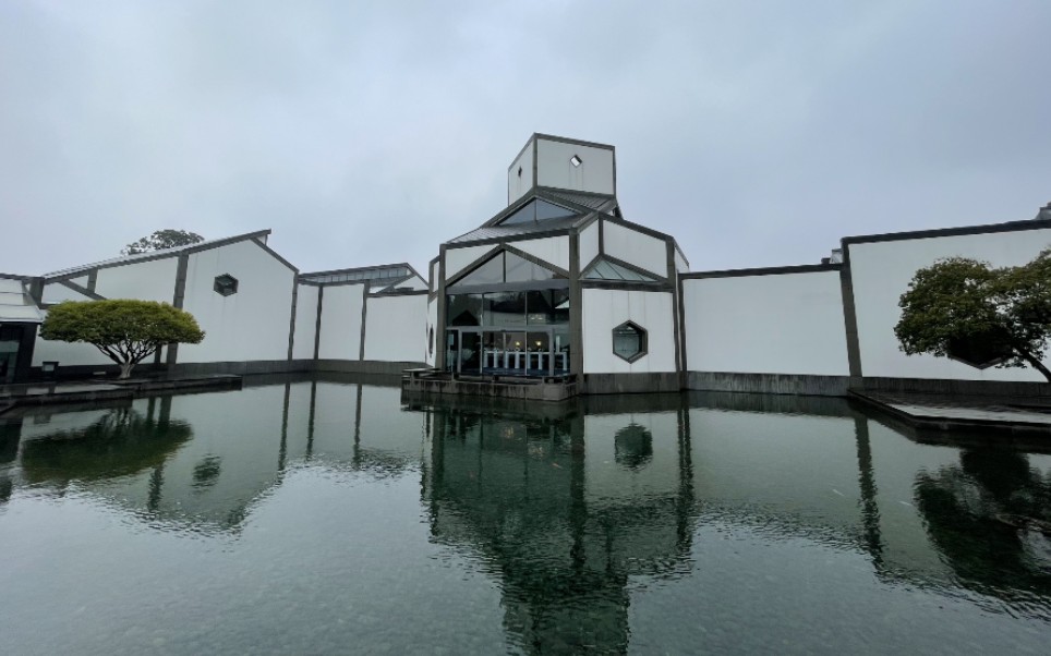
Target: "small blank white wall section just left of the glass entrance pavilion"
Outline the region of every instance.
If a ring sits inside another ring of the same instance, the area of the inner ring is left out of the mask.
[[[373,296],[365,302],[365,360],[426,360],[426,294]]]

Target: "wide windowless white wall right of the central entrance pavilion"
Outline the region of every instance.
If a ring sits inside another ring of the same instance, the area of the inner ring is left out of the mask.
[[[682,280],[691,372],[847,376],[838,271]]]

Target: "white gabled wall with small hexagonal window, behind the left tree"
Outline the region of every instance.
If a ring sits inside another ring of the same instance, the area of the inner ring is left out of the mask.
[[[222,296],[215,277],[238,279]],[[180,344],[179,362],[286,360],[295,272],[254,241],[192,253],[183,309],[205,331],[200,344]]]

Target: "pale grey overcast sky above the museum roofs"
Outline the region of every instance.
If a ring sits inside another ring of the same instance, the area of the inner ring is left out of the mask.
[[[692,270],[1051,201],[1051,2],[0,2],[0,271],[161,228],[303,271],[506,205],[533,132],[612,144]]]

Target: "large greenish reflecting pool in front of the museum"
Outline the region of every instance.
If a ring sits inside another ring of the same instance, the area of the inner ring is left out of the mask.
[[[0,417],[10,654],[1039,653],[1051,442],[289,379]]]

